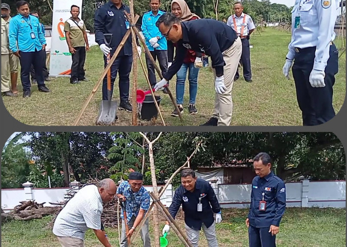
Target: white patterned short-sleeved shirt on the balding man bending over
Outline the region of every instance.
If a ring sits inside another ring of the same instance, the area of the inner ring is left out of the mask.
[[[84,240],[88,228],[101,229],[103,201],[98,187],[87,185],[80,189],[61,209],[53,226],[59,237],[75,237]]]

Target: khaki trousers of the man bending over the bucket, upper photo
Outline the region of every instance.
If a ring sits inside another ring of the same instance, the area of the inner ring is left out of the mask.
[[[229,49],[223,52],[224,66],[224,84],[227,90],[223,94],[216,93],[215,111],[213,118],[218,119],[218,126],[229,126],[232,115],[232,84],[237,71],[238,61],[242,53],[241,39],[238,37]],[[214,80],[216,80],[216,70],[213,69]]]

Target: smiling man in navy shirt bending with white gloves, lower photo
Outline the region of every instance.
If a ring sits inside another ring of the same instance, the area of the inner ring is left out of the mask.
[[[173,203],[169,208],[174,218],[182,205],[187,238],[193,247],[198,247],[199,233],[202,229],[209,247],[218,247],[216,223],[222,222],[221,208],[211,185],[204,179],[195,177],[195,172],[186,168],[181,171],[181,185],[175,190]],[[216,222],[213,214],[216,213]],[[169,222],[163,228],[170,230]]]

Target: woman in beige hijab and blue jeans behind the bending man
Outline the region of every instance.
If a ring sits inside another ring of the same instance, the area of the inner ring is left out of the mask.
[[[182,21],[191,21],[200,19],[199,16],[192,13],[184,0],[173,0],[171,2],[171,12]],[[168,57],[169,66],[173,62],[173,49],[174,44],[168,41]],[[184,95],[184,84],[188,71],[189,81],[189,106],[188,111],[190,115],[197,114],[198,111],[195,107],[196,93],[198,90],[198,74],[199,69],[202,67],[202,53],[195,52],[191,49],[187,49],[182,67],[176,74],[176,103],[180,113],[183,113],[183,95]],[[173,110],[171,116],[177,117],[178,112],[176,109]]]

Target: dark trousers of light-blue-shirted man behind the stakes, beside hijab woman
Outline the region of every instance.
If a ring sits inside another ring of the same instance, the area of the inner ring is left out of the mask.
[[[152,54],[152,57],[154,58],[154,61],[157,61],[157,58],[158,58],[159,67],[160,67],[160,70],[162,71],[162,74],[168,72],[168,51],[154,49],[154,51],[151,51],[151,54]],[[149,82],[151,82],[151,85],[154,86],[157,83],[155,68],[149,56],[147,55],[147,53],[145,57],[146,57]]]

